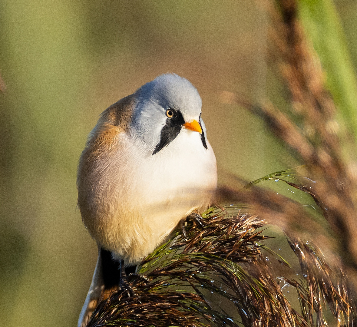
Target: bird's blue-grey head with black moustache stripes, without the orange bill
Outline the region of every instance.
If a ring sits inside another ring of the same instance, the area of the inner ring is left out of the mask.
[[[202,146],[207,149],[202,100],[190,81],[176,74],[160,75],[137,89],[134,97],[130,134],[150,154],[169,145],[193,120],[201,126]]]

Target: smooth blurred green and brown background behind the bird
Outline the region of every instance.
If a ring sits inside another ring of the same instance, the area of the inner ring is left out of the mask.
[[[0,326],[75,326],[96,245],[76,166],[98,115],[166,72],[201,94],[218,165],[253,180],[285,150],[217,90],[283,105],[258,1],[0,0]],[[336,1],[357,67],[357,1]]]

